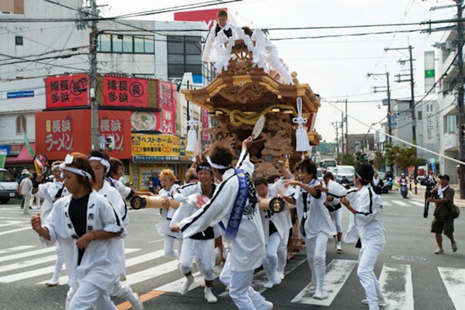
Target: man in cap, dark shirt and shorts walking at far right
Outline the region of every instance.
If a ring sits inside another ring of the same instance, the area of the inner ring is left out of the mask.
[[[450,177],[447,174],[439,176],[439,186],[431,190],[429,202],[434,202],[434,219],[431,223],[431,232],[436,234],[437,250],[435,254],[444,254],[442,249],[442,231],[450,239],[452,251],[457,252],[457,242],[454,240],[454,218],[451,216],[454,206],[454,189],[449,186]]]

